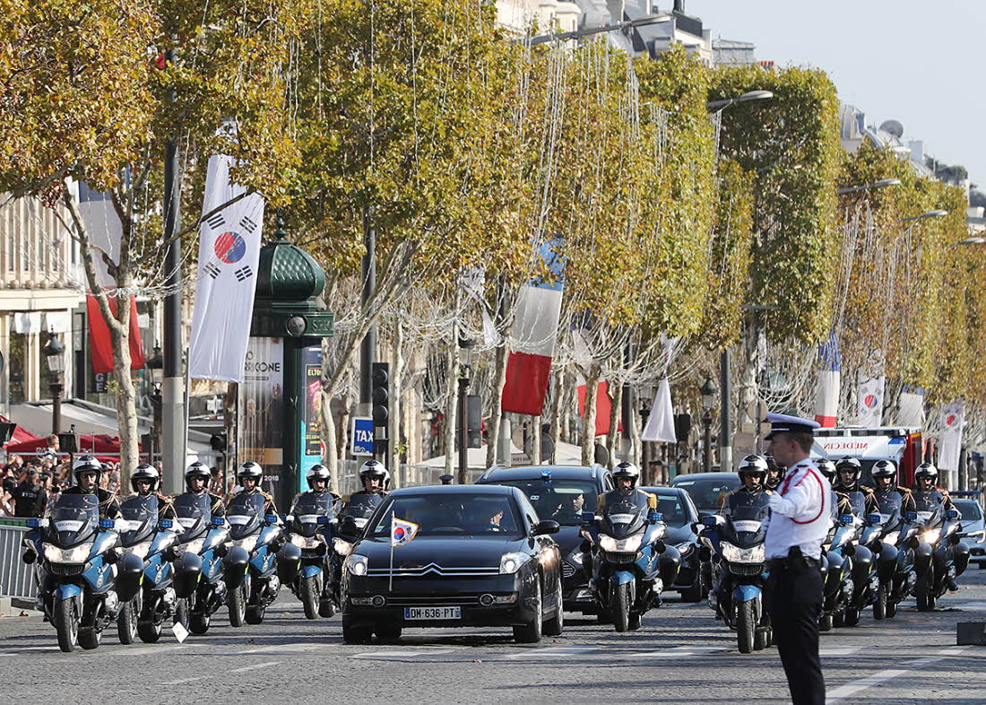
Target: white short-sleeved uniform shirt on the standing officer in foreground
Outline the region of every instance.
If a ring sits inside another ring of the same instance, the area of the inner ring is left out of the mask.
[[[787,558],[792,546],[802,554],[821,557],[821,542],[831,521],[831,485],[814,463],[802,460],[789,468],[770,497],[771,516],[764,549],[767,558]]]

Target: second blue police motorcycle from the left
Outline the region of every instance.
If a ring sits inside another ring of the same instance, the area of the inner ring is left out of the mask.
[[[158,521],[158,497],[134,495],[120,505],[116,596],[120,612],[116,630],[123,644],[140,636],[157,642],[166,620],[175,613],[172,553],[177,533],[170,519]]]

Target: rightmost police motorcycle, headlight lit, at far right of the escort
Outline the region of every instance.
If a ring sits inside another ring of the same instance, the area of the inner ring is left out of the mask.
[[[913,495],[921,522],[919,535],[932,551],[932,560],[914,587],[918,609],[926,612],[934,609],[947,591],[956,589],[955,578],[969,564],[969,547],[961,539],[958,511],[946,509],[941,491],[918,490]]]

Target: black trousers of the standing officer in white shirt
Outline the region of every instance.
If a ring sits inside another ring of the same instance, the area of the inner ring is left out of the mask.
[[[772,569],[766,597],[774,643],[788,676],[791,702],[794,705],[824,705],[825,681],[818,659],[821,572],[804,564]]]

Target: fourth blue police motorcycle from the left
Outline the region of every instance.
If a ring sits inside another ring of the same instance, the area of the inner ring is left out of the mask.
[[[230,625],[259,624],[267,605],[277,598],[281,582],[275,571],[276,545],[281,534],[277,515],[264,515],[265,499],[259,493],[243,493],[226,509],[230,540],[223,558],[226,604]]]

